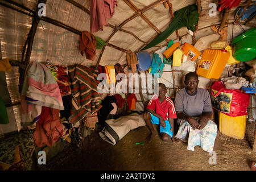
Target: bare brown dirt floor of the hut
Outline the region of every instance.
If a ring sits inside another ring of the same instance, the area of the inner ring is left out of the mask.
[[[163,143],[160,138],[146,143],[149,134],[146,126],[131,130],[115,146],[94,132],[85,138],[82,148],[71,147],[61,152],[40,170],[250,171],[251,163],[256,162],[256,153],[252,151],[254,130],[255,122],[247,122],[244,139],[228,137],[218,131],[214,145],[217,164],[209,164],[212,156],[199,146],[195,151],[188,151],[186,143]],[[135,144],[137,142],[145,144]]]

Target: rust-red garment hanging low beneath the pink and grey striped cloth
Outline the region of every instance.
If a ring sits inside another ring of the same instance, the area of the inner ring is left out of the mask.
[[[58,109],[42,107],[39,121],[36,123],[34,142],[38,147],[44,144],[52,146],[63,134],[63,126],[60,121]]]

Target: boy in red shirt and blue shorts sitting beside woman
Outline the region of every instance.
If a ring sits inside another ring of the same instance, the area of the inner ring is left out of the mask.
[[[172,129],[174,128],[174,118],[177,118],[177,115],[174,102],[172,102],[171,98],[166,97],[166,93],[166,85],[160,83],[159,94],[158,96],[153,96],[148,102],[144,119],[148,129],[151,131],[150,139],[157,136],[152,124],[160,124],[163,142],[169,142],[171,138],[172,142],[175,143],[176,140]]]

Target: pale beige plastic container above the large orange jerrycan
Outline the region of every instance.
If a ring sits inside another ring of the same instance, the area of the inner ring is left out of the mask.
[[[199,40],[197,40],[194,47],[199,51],[203,51],[204,49],[210,48],[210,44],[214,41],[217,41],[219,38],[220,38],[220,35],[218,34],[211,34],[208,36],[204,36],[203,38],[200,38]]]

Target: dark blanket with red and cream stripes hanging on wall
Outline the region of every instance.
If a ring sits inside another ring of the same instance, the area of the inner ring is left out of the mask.
[[[75,125],[89,112],[93,114],[101,108],[101,97],[97,92],[100,81],[97,80],[96,67],[71,65],[68,67],[68,75],[72,93],[72,115],[69,117],[69,122]]]

